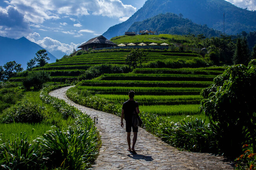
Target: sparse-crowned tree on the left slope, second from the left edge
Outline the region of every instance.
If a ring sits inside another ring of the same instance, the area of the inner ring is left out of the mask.
[[[47,57],[47,53],[45,49],[40,49],[35,53],[36,57],[32,58],[29,62],[27,62],[27,69],[32,69],[35,67],[43,67],[45,64],[47,64],[47,60],[50,60],[49,57]]]

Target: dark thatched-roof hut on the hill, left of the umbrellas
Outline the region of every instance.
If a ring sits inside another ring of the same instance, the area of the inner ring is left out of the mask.
[[[113,43],[112,41],[109,41],[104,36],[100,35],[98,37],[92,38],[91,40],[83,43],[78,48],[82,48],[82,50],[88,50],[89,48],[95,49],[95,48],[108,48],[113,47],[117,44]]]

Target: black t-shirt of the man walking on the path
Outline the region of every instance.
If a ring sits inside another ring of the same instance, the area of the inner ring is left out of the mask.
[[[125,121],[132,121],[132,113],[136,111],[137,107],[139,107],[139,103],[135,101],[126,101],[122,104]]]

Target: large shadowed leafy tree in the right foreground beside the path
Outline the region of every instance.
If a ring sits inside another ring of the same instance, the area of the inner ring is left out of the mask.
[[[227,68],[202,90],[200,110],[217,122],[217,144],[225,154],[239,155],[245,143],[256,151],[256,60]]]

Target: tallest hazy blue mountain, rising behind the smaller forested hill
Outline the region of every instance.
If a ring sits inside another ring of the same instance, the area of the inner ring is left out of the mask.
[[[124,35],[134,22],[143,21],[158,14],[182,14],[200,25],[223,32],[223,13],[225,13],[225,33],[236,35],[242,31],[256,31],[256,11],[241,9],[225,0],[147,0],[143,7],[128,20],[112,26],[103,36],[111,38]],[[138,31],[138,30],[134,30]]]

